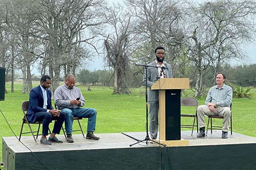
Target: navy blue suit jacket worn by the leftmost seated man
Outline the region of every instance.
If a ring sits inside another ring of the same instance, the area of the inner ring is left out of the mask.
[[[47,93],[47,109],[53,110],[52,108],[52,92],[50,90],[46,90]],[[44,109],[44,96],[41,87],[38,85],[38,87],[35,87],[32,89],[29,93],[29,107],[27,111],[27,117],[29,122],[35,122],[36,121],[36,112],[40,111],[47,111],[47,109]]]

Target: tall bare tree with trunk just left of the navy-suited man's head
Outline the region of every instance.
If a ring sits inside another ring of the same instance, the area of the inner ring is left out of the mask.
[[[15,62],[23,74],[22,93],[32,89],[31,66],[38,59],[36,48],[40,45],[39,39],[36,38],[40,36],[40,33],[35,29],[35,16],[33,11],[29,10],[29,8],[36,8],[36,5],[31,2],[6,1],[6,25],[12,35],[12,44],[10,44],[12,69],[14,69],[14,59],[17,55]],[[31,34],[36,36],[31,36]]]

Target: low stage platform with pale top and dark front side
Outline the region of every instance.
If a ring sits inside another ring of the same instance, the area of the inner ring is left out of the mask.
[[[145,139],[145,132],[125,132]],[[2,159],[8,169],[256,169],[256,138],[233,132],[221,139],[221,131],[196,138],[196,132],[182,131],[188,146],[161,147],[135,143],[124,134],[97,134],[99,141],[73,135],[74,143],[36,145],[32,136],[3,137]],[[37,158],[36,158],[37,157]]]

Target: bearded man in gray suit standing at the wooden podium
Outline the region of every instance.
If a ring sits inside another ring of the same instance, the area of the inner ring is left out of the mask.
[[[157,138],[158,131],[158,113],[159,113],[159,96],[158,90],[151,90],[151,86],[159,80],[159,78],[172,78],[172,67],[164,62],[165,50],[163,46],[157,46],[154,55],[156,60],[150,62],[147,73],[148,103],[150,114],[150,136],[152,139]],[[143,76],[143,84],[146,85],[146,74]]]

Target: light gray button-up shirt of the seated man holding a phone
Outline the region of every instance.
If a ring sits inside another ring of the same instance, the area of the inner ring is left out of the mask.
[[[81,104],[72,105],[70,103],[71,100],[76,100],[77,97],[80,97]],[[58,109],[62,110],[63,108],[79,108],[79,106],[84,106],[84,97],[81,93],[81,90],[77,87],[68,87],[67,85],[61,85],[54,92],[54,101],[56,105],[59,107]]]

